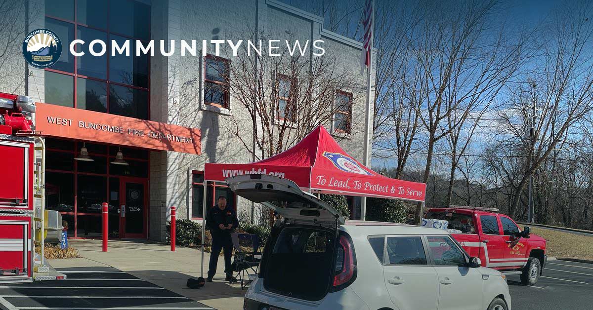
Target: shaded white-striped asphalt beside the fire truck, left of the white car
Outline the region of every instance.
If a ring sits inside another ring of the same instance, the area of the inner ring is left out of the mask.
[[[209,310],[178,295],[110,267],[59,269],[68,279],[0,285],[5,310]]]

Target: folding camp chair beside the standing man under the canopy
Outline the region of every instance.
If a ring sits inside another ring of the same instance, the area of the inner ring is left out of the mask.
[[[232,247],[235,250],[235,260],[232,263],[232,271],[238,273],[241,280],[241,289],[247,286],[249,270],[257,274],[262,252],[259,249],[259,239],[253,234],[231,233]],[[247,279],[245,274],[247,273]]]

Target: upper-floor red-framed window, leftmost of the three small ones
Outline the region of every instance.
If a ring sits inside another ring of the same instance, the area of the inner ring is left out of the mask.
[[[229,72],[231,62],[222,57],[206,55],[204,79],[204,102],[211,106],[229,107]]]

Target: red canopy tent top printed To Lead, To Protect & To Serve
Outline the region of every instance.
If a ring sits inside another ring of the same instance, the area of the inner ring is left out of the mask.
[[[251,164],[212,164],[208,181],[243,174],[270,174],[294,181],[304,191],[424,202],[426,184],[378,174],[348,155],[323,126],[288,150]]]

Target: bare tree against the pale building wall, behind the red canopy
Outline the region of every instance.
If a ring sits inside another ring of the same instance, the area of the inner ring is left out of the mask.
[[[266,41],[265,34],[259,35]],[[356,117],[352,104],[363,93],[363,85],[356,82],[356,72],[331,52],[313,56],[297,49],[291,55],[283,49],[279,56],[259,56],[253,55],[253,50],[248,53],[247,44],[243,46],[245,49],[233,57],[225,79],[231,97],[247,111],[247,130],[253,135],[245,134],[244,120],[234,115],[230,116],[234,126],[228,130],[255,159],[285,151],[318,124],[342,128],[339,139],[362,130],[356,126],[360,120],[351,118]],[[340,97],[337,91],[347,94]]]

